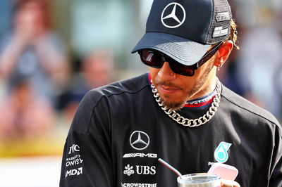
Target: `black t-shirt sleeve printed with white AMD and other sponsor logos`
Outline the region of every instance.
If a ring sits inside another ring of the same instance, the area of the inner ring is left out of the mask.
[[[106,99],[88,93],[66,138],[60,187],[114,186],[109,125]]]

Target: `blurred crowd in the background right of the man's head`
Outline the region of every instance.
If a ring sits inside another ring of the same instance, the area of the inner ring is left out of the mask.
[[[240,50],[233,50],[219,77],[230,89],[281,121],[282,1],[272,2],[276,3],[231,1]]]

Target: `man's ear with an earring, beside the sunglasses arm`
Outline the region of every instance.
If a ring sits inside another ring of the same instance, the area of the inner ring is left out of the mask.
[[[216,67],[221,67],[227,60],[232,49],[233,49],[233,41],[231,40],[225,41],[223,44],[221,44],[218,51],[216,52],[216,59],[214,60],[214,65]]]

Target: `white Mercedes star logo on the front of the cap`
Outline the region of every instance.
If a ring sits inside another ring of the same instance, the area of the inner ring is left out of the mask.
[[[171,10],[172,8],[172,10]],[[178,3],[168,4],[161,13],[161,22],[165,27],[176,28],[183,24],[186,18],[185,9]],[[168,22],[173,19],[174,22]]]

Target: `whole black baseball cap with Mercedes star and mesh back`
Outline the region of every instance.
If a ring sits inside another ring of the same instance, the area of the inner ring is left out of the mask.
[[[231,18],[227,0],[154,0],[146,33],[131,53],[153,49],[193,65],[229,37]]]

